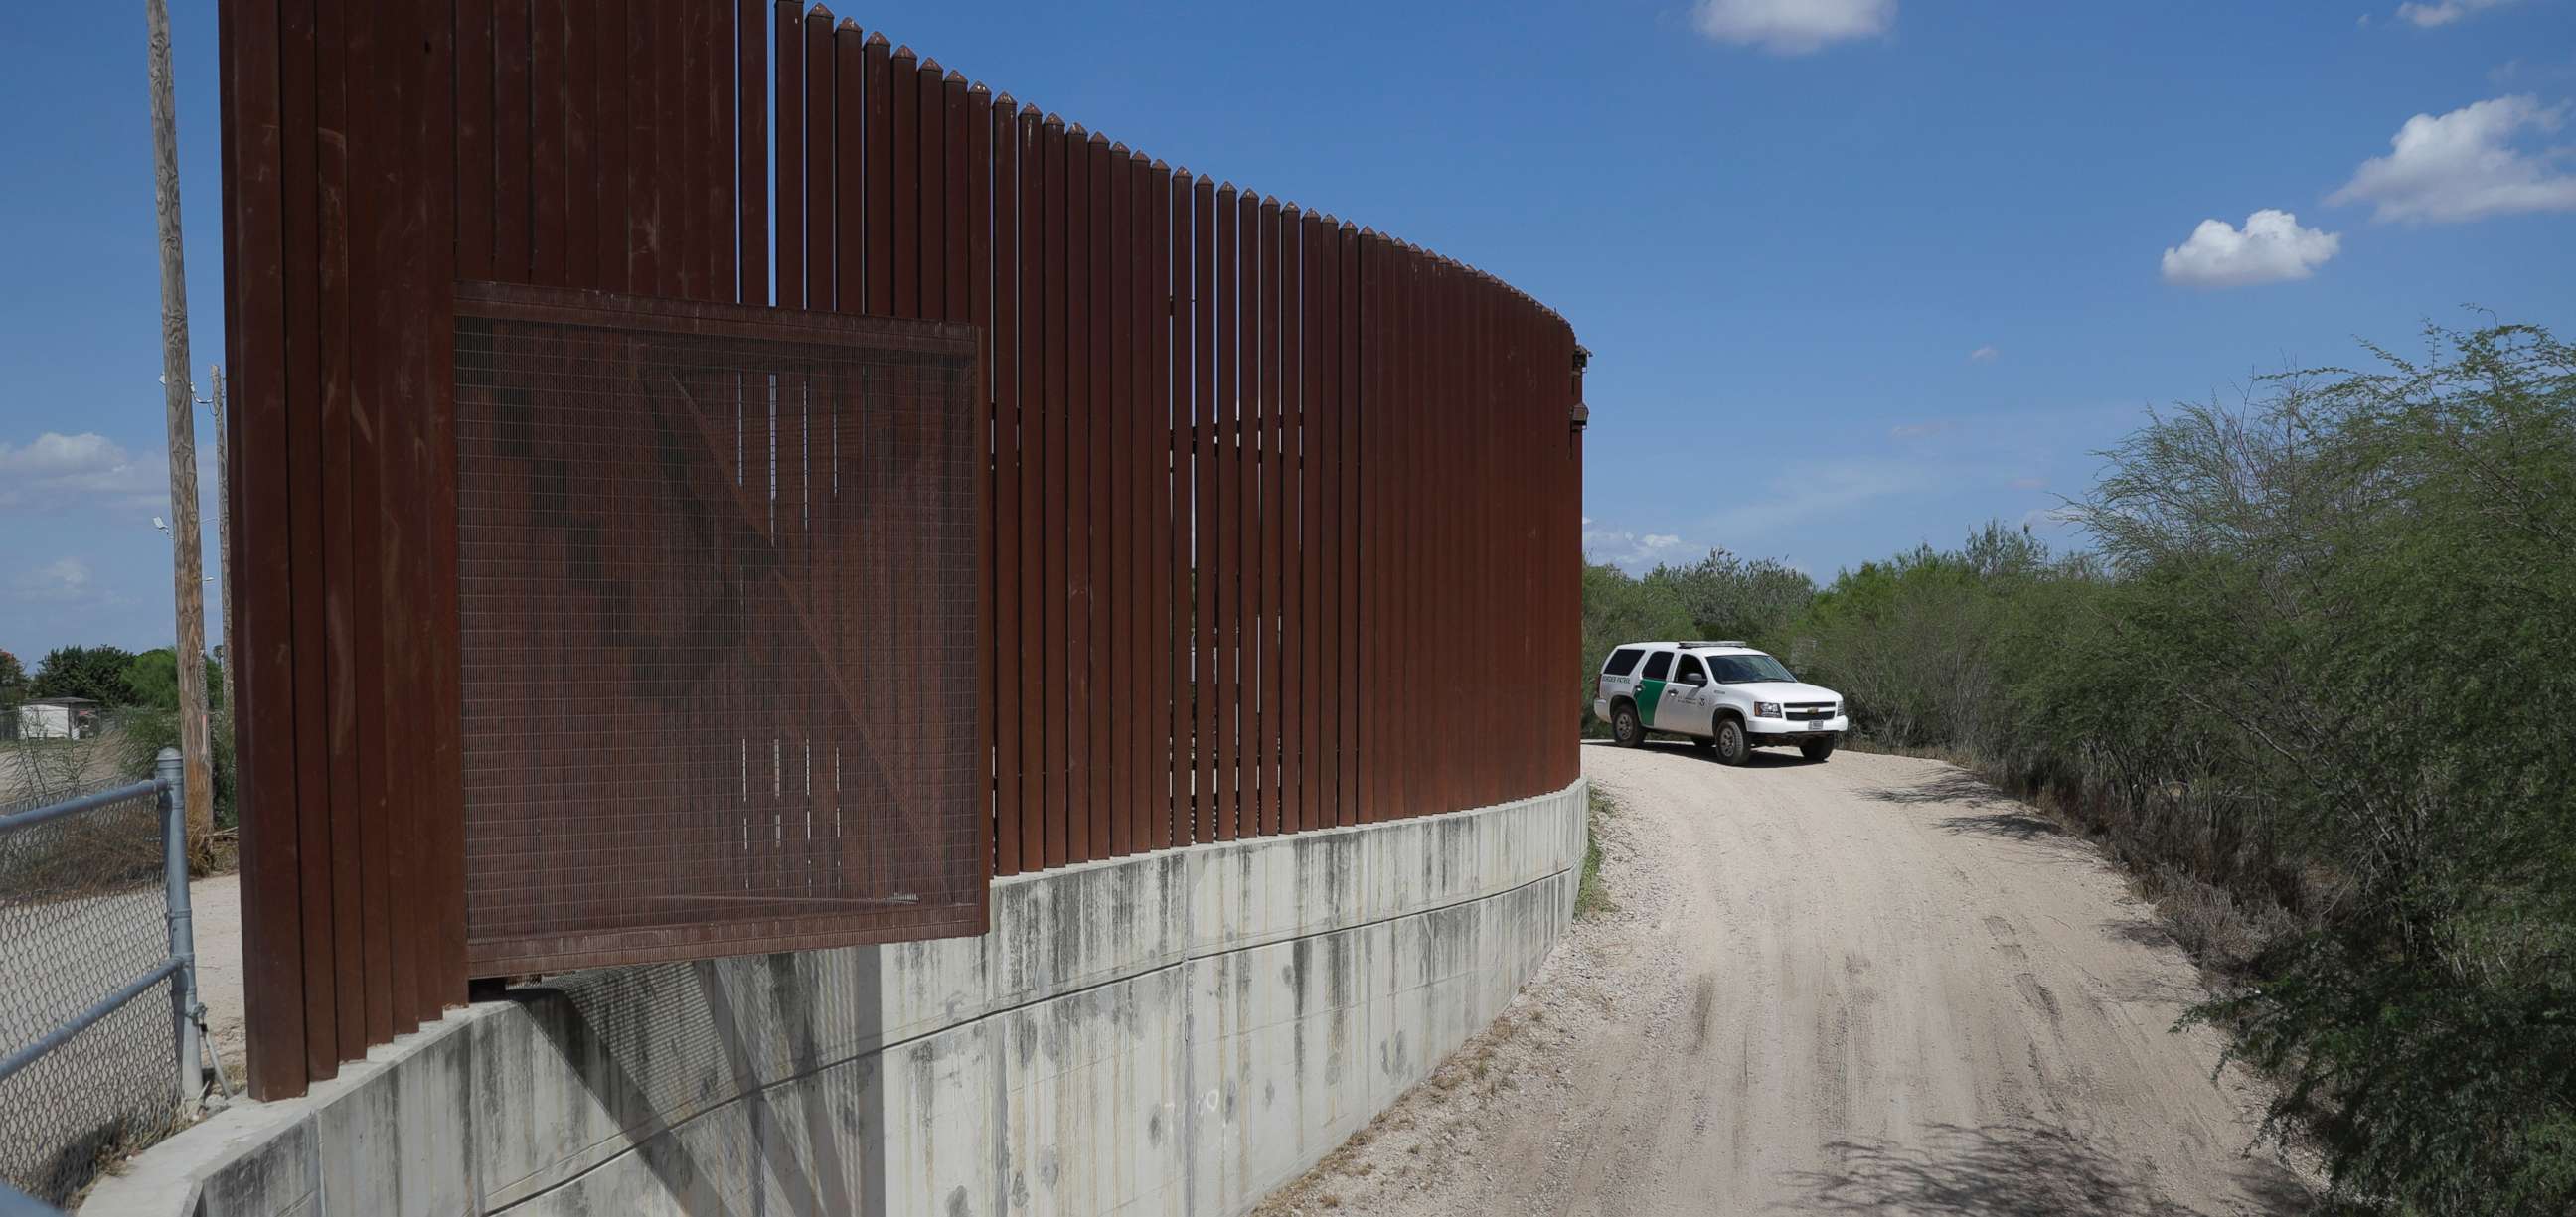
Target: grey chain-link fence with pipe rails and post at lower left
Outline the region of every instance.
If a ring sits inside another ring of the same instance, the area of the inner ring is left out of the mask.
[[[152,769],[0,813],[0,1186],[41,1202],[201,1096],[178,751]],[[139,1001],[162,988],[167,1006]]]

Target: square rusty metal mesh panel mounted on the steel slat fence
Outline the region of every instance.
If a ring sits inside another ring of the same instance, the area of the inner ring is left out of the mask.
[[[981,929],[971,332],[569,301],[456,327],[469,965]]]

